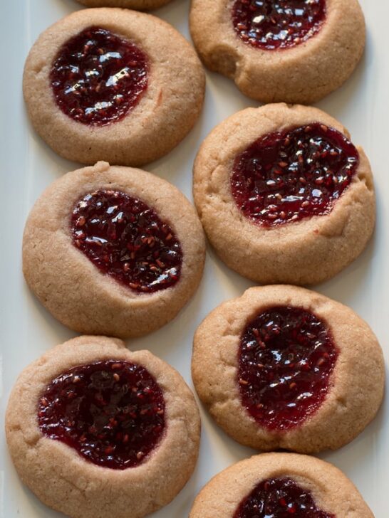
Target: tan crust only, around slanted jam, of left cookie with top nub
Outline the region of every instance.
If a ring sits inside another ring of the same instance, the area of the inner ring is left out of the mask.
[[[98,189],[118,190],[153,208],[182,248],[180,280],[139,293],[101,273],[78,250],[70,218],[78,199]],[[84,334],[136,337],[174,318],[197,289],[205,258],[204,233],[192,204],[157,176],[99,162],[55,181],[33,206],[24,231],[23,270],[38,300],[67,327]]]

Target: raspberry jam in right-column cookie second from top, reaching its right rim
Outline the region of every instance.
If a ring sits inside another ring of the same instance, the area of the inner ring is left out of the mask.
[[[323,216],[358,169],[356,147],[336,129],[314,123],[269,133],[234,160],[232,196],[264,227]]]

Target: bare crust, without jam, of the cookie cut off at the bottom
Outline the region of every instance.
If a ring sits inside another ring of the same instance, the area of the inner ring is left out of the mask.
[[[320,509],[336,517],[374,518],[341,470],[323,460],[293,453],[255,455],[220,472],[197,495],[190,518],[232,517],[261,480],[273,477],[291,477],[311,492]]]

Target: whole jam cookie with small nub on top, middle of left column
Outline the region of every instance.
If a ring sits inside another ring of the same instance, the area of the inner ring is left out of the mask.
[[[174,318],[199,285],[204,255],[202,226],[175,186],[105,162],[53,182],[23,240],[24,276],[53,316],[118,337]]]

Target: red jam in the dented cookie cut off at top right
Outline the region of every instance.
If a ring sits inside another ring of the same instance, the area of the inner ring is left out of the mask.
[[[254,48],[290,48],[314,36],[326,19],[326,0],[236,0],[234,29]]]

